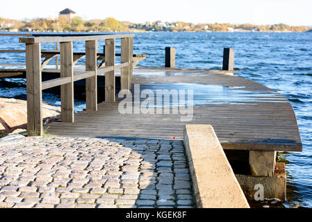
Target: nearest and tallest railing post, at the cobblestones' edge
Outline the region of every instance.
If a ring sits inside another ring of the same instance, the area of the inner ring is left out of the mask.
[[[26,44],[28,136],[42,135],[41,45]]]

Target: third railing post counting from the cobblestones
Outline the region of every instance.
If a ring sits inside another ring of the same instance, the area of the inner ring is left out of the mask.
[[[85,79],[85,108],[97,111],[97,40],[85,41],[85,71],[95,71]]]

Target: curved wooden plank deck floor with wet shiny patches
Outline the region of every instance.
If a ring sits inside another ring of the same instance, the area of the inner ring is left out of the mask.
[[[224,71],[161,67],[136,68],[133,84],[136,83],[140,83],[140,92],[192,89],[192,119],[181,121],[187,114],[180,110],[172,114],[177,107],[174,101],[171,101],[174,105],[170,107],[170,114],[156,114],[156,104],[153,114],[121,114],[118,101],[104,102],[99,104],[97,112],[76,113],[74,123],[50,123],[46,126],[47,132],[73,137],[183,139],[186,124],[211,124],[224,149],[302,151],[289,101],[261,84],[226,75]],[[135,87],[133,85],[132,90]]]

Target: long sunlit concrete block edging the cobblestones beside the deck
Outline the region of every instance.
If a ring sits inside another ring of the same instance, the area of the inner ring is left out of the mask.
[[[186,125],[184,146],[197,207],[249,207],[211,125]]]

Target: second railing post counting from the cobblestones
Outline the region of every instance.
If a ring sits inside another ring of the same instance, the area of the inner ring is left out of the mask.
[[[60,117],[63,122],[74,122],[74,69],[72,42],[60,42],[60,77],[72,81],[60,86]]]

